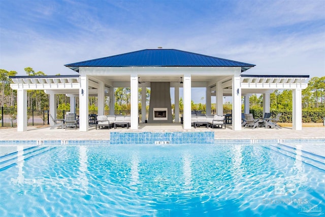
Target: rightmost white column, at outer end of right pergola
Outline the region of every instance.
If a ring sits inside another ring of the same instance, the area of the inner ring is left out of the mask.
[[[293,129],[302,130],[302,90],[293,89]]]

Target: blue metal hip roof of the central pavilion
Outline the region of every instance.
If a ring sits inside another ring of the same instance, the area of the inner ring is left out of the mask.
[[[64,65],[79,72],[79,67],[241,67],[255,65],[176,49],[145,49]]]

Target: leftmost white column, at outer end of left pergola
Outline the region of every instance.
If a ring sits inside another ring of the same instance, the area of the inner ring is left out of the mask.
[[[17,90],[17,131],[27,131],[27,90]]]

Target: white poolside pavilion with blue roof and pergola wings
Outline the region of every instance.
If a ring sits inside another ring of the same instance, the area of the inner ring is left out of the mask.
[[[270,111],[270,93],[274,89],[293,90],[293,129],[302,130],[302,89],[306,76],[242,75],[255,65],[175,49],[146,49],[65,65],[79,75],[13,76],[11,88],[17,89],[17,131],[27,130],[27,90],[43,89],[50,95],[50,114],[56,116],[56,95],[67,94],[71,111],[79,97],[80,131],[88,131],[88,97],[98,97],[98,114],[104,114],[105,96],[110,97],[114,114],[114,88],[131,88],[131,129],[138,129],[138,88],[142,87],[142,113],[146,112],[146,87],[151,82],[170,82],[175,88],[175,122],[179,120],[179,88],[183,87],[183,129],[191,129],[191,87],[206,88],[207,114],[211,96],[216,97],[216,112],[223,114],[223,96],[232,96],[232,125],[240,131],[241,104],[249,113],[249,96],[263,94],[264,112]],[[141,82],[139,82],[139,78]],[[182,83],[180,80],[182,78]],[[145,115],[141,122],[145,122]]]

